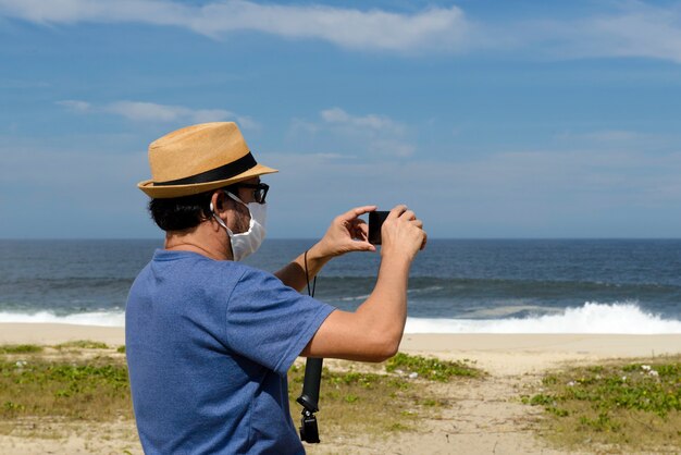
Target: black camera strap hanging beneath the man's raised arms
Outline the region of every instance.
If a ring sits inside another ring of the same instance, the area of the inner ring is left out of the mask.
[[[314,288],[317,287],[317,276],[312,281],[310,290],[310,274],[308,273],[308,251],[305,251],[305,279],[308,283],[308,295],[314,297]],[[302,393],[297,402],[302,405],[302,419],[300,421],[300,440],[318,444],[319,428],[317,427],[317,417],[314,413],[319,410],[319,389],[322,381],[322,364],[323,358],[308,357],[305,362],[305,378],[302,380]]]

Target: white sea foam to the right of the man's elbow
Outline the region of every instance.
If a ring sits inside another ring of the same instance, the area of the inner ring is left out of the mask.
[[[681,321],[643,311],[636,304],[586,303],[552,315],[508,319],[408,318],[406,333],[681,333]]]

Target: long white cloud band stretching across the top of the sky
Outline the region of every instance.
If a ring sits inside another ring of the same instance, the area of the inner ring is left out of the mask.
[[[289,39],[398,52],[523,51],[556,59],[640,57],[681,63],[681,3],[609,1],[579,17],[471,20],[458,7],[417,13],[321,4],[161,0],[0,0],[0,16],[40,24],[141,23],[220,38],[259,32]]]

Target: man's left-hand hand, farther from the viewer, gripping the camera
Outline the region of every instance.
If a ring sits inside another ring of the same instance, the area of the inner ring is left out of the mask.
[[[367,223],[359,218],[375,209],[376,206],[356,207],[334,218],[318,244],[320,255],[335,257],[350,251],[375,251],[376,247],[367,241]]]

